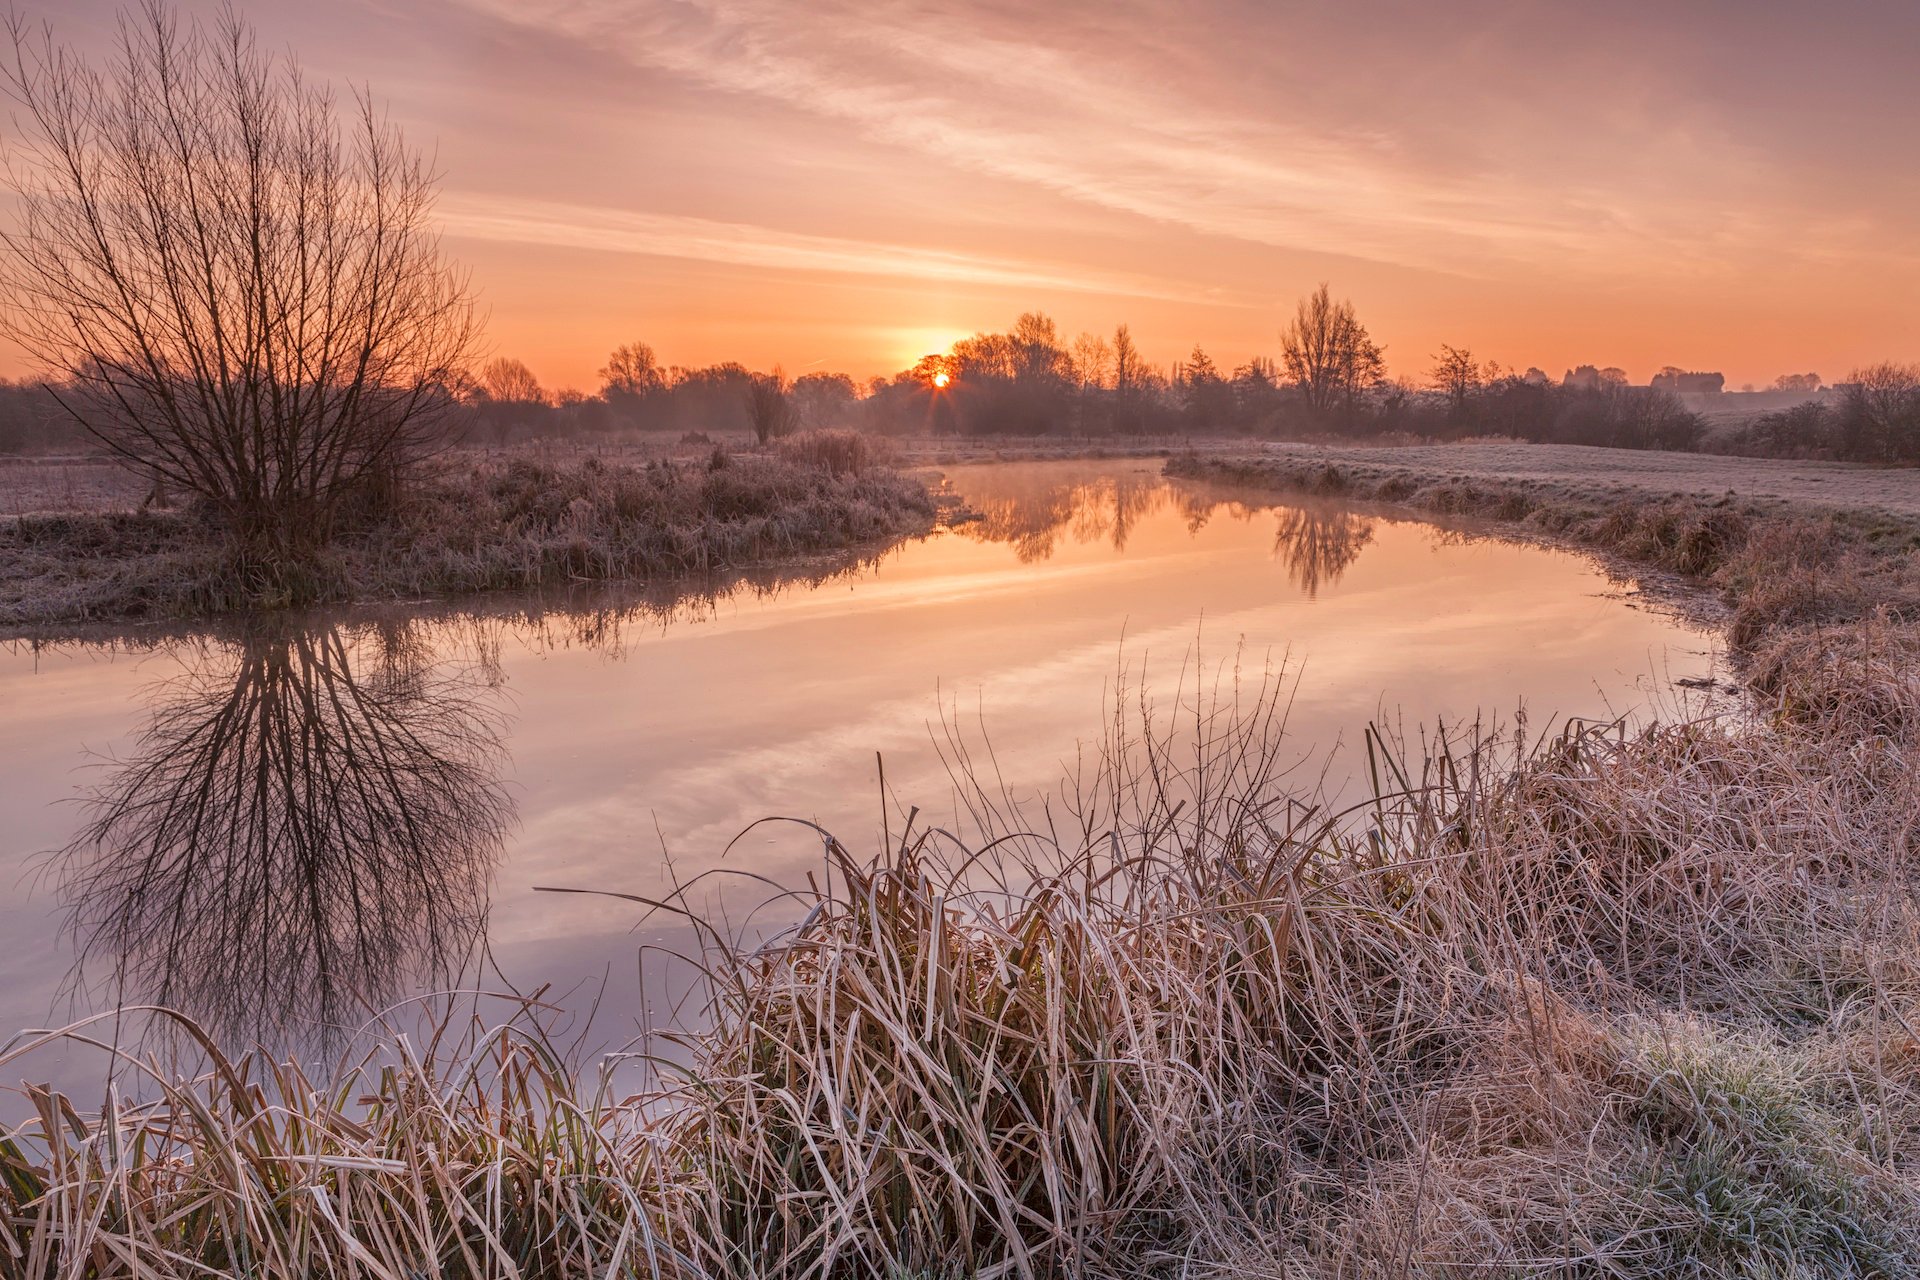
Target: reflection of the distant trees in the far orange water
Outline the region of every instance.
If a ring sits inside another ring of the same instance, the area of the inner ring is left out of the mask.
[[[966,535],[1012,543],[1021,564],[1048,558],[1064,535],[1125,551],[1133,530],[1164,510],[1177,510],[1188,533],[1219,512],[1250,520],[1258,510],[1271,510],[1269,503],[1173,484],[1150,472],[1060,478],[1058,472],[1008,468],[970,476],[966,499],[981,512],[979,520],[962,526]],[[1273,553],[1309,599],[1340,581],[1373,541],[1373,520],[1336,507],[1283,507],[1279,516]]]

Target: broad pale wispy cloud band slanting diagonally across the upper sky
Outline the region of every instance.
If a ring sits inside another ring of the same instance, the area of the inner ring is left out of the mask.
[[[1622,259],[1699,271],[1778,232],[1749,234],[1680,194],[1651,209],[1609,184],[1436,171],[1394,138],[1261,104],[1202,106],[1142,65],[1140,46],[1050,23],[1052,6],[983,17],[864,0],[463,2],[943,165],[1250,244],[1469,274]],[[1743,165],[1724,148],[1688,159],[1722,180]]]

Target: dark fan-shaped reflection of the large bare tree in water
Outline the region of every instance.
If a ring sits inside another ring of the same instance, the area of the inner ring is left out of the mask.
[[[497,668],[409,622],[186,654],[63,854],[77,981],[278,1042],[455,973],[513,816]]]

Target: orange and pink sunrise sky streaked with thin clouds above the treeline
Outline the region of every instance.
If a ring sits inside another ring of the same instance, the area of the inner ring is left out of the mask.
[[[15,4],[83,50],[119,8]],[[1914,0],[234,4],[436,155],[549,388],[626,342],[891,374],[1033,309],[1233,367],[1323,280],[1415,378],[1920,359]]]

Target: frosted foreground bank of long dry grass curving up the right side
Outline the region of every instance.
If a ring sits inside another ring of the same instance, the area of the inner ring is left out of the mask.
[[[1375,796],[1331,814],[1290,791],[1284,679],[1123,691],[1050,808],[962,766],[964,839],[829,844],[778,944],[708,935],[659,1094],[536,1011],[346,1067],[213,1054],[106,1109],[29,1088],[6,1265],[1916,1274],[1910,553],[1715,510],[1507,518],[1720,583],[1759,714],[1367,731]],[[1770,581],[1807,574],[1816,606]]]

